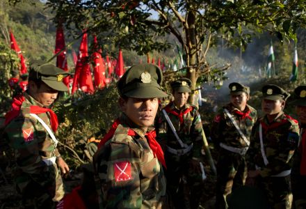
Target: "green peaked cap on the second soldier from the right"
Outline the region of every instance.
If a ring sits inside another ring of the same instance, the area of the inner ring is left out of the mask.
[[[273,84],[268,84],[262,87],[262,94],[266,100],[287,100],[290,96],[290,93],[284,91],[280,86]]]

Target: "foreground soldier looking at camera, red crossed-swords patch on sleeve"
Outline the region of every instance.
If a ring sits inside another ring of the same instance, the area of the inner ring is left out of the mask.
[[[99,208],[163,208],[166,178],[161,146],[154,139],[162,72],[134,65],[118,82],[122,114],[93,157]]]

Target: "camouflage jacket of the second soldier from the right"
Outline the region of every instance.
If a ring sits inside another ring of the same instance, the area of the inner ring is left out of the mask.
[[[259,125],[262,126],[262,141],[268,164],[264,164],[261,155],[259,138]],[[298,121],[283,112],[271,122],[264,116],[255,123],[252,129],[251,145],[248,150],[248,166],[255,170],[260,167],[262,177],[277,175],[292,167],[293,153],[298,147],[299,127]]]

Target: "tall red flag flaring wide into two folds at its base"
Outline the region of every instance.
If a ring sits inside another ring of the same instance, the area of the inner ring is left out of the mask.
[[[72,84],[72,93],[77,91],[78,84],[83,92],[93,93],[92,77],[90,72],[90,65],[86,60],[88,56],[87,33],[83,34],[80,45],[79,59],[74,73]]]

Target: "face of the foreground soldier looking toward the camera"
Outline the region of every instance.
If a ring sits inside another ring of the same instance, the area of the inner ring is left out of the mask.
[[[157,109],[159,108],[159,100],[157,98],[140,99],[127,98],[120,99],[122,111],[140,127],[149,127],[153,125]]]

